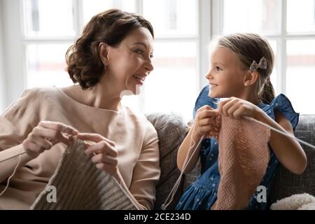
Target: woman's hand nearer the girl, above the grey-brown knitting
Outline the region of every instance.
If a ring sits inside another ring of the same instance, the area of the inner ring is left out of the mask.
[[[102,169],[114,177],[118,175],[118,152],[113,141],[100,134],[79,133],[77,137],[80,140],[92,142],[92,144],[87,144],[85,153],[94,154],[92,162],[98,169]]]

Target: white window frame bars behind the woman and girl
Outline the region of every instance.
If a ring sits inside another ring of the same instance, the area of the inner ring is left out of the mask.
[[[73,23],[76,36],[83,29],[83,1],[73,1]],[[69,43],[71,45],[76,36],[57,37],[57,38],[26,38],[24,36],[23,8],[22,0],[1,0],[0,13],[0,41],[3,43],[0,55],[1,92],[0,109],[8,106],[11,102],[18,99],[21,92],[27,87],[27,65],[26,65],[26,46],[29,43]],[[143,14],[143,0],[135,0],[136,12]],[[196,36],[174,36],[157,37],[155,42],[177,42],[195,41],[197,43],[197,91],[202,90],[207,85],[204,75],[209,69],[209,56],[207,45],[211,36],[221,34],[223,31],[223,1],[222,0],[200,0],[197,1],[197,35]],[[315,39],[312,34],[289,34],[286,32],[286,0],[281,0],[281,32],[276,35],[266,35],[270,40],[276,41],[277,46],[277,92],[286,94],[286,43],[289,40]],[[20,66],[16,66],[20,64]],[[16,80],[19,80],[18,82]],[[196,92],[197,95],[199,92]],[[193,94],[193,93],[192,93]]]

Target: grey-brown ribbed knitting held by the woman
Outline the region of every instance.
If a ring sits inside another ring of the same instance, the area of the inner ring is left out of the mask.
[[[85,144],[76,140],[64,152],[45,190],[30,209],[138,209],[111,175],[97,169]],[[55,187],[56,201],[48,200]]]

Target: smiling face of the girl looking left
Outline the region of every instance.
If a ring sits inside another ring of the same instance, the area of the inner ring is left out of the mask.
[[[209,97],[239,97],[244,92],[244,72],[237,56],[227,48],[210,51],[210,70],[206,75],[210,85]]]

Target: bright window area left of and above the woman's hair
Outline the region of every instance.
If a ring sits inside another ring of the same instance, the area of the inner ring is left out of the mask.
[[[62,7],[60,7],[62,6]],[[26,87],[71,85],[65,53],[96,13],[108,8],[134,10],[134,1],[24,0],[23,43]],[[56,16],[57,12],[57,16]]]

